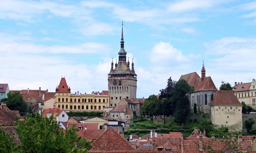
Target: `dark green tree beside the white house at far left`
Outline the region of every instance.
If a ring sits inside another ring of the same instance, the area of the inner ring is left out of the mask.
[[[3,99],[6,106],[12,111],[19,111],[20,113],[26,113],[27,104],[23,100],[23,96],[15,91],[14,93],[9,92],[7,94],[8,98]]]

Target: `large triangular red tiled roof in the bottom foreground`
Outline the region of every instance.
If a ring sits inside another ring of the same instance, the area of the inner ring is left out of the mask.
[[[134,150],[128,141],[119,135],[113,127],[109,127],[95,142],[91,150]]]

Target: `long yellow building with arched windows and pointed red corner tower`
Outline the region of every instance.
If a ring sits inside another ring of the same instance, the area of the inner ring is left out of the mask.
[[[56,88],[55,108],[69,111],[103,111],[104,107],[109,106],[108,92],[93,92],[92,94],[71,94],[65,78]]]

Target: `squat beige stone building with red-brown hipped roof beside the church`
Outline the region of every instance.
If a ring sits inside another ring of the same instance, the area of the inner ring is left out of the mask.
[[[233,91],[217,91],[211,112],[212,124],[224,125],[229,131],[242,130],[242,105]]]

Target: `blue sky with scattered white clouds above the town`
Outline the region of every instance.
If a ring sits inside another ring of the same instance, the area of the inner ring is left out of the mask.
[[[137,97],[182,74],[221,81],[256,79],[253,0],[0,0],[0,83],[10,90],[108,90],[112,58],[134,58]]]

